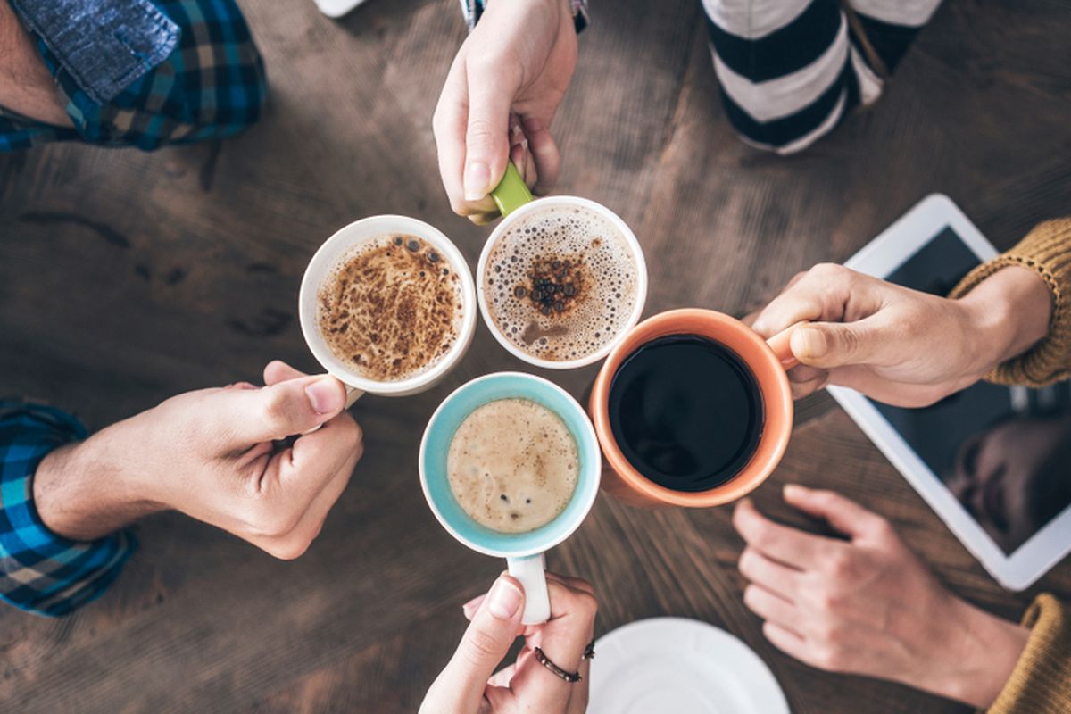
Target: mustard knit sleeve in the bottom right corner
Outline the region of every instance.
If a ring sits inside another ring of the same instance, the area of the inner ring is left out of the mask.
[[[1071,612],[1052,595],[1038,595],[1023,624],[1030,628],[1030,639],[989,714],[1068,714]]]

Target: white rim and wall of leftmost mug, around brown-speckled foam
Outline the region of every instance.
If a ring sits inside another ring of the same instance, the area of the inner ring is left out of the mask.
[[[376,381],[356,373],[331,352],[331,348],[328,347],[316,323],[316,303],[325,277],[355,246],[394,233],[416,236],[446,257],[447,264],[457,274],[462,284],[462,324],[457,339],[454,340],[442,359],[429,369],[397,381]],[[439,229],[423,221],[401,215],[377,215],[362,218],[336,231],[319,247],[308,262],[305,275],[301,279],[301,291],[298,298],[301,333],[308,344],[308,349],[320,365],[327,369],[328,374],[346,385],[347,408],[365,392],[392,397],[417,394],[435,385],[465,356],[465,352],[472,343],[472,335],[476,333],[474,292],[472,274],[465,262],[465,257]]]

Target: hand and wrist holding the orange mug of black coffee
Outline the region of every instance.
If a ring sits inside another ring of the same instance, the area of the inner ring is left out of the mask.
[[[771,337],[801,321],[788,371],[798,398],[827,383],[922,407],[980,379],[1049,331],[1052,298],[1034,271],[1005,268],[961,300],[832,263],[798,274],[752,325]]]

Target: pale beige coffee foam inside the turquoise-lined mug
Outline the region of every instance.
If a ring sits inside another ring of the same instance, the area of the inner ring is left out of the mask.
[[[447,474],[458,505],[500,533],[554,520],[573,498],[576,441],[556,413],[528,399],[498,399],[469,414],[450,442]]]

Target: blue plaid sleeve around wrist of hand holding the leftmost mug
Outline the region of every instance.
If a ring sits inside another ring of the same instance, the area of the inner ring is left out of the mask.
[[[87,543],[56,535],[33,505],[41,459],[84,438],[70,414],[0,401],[0,599],[37,614],[63,616],[99,597],[137,547],[126,532]]]

